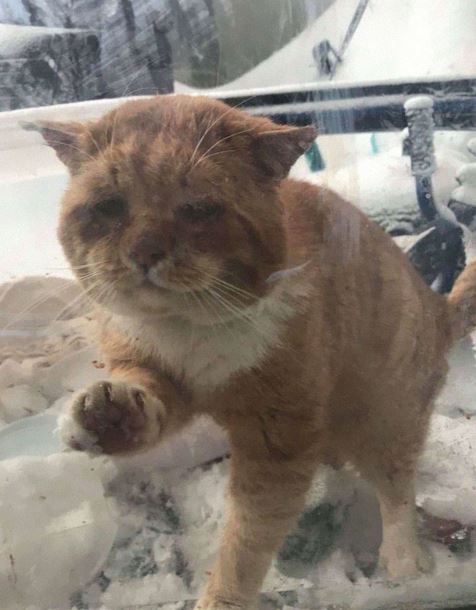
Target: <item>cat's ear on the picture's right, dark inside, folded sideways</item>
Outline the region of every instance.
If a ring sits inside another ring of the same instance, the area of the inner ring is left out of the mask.
[[[308,127],[283,127],[258,133],[255,150],[258,161],[267,174],[282,180],[306,152],[317,137],[317,129]]]

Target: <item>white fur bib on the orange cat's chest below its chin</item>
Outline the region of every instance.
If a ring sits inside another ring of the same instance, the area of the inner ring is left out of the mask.
[[[258,366],[279,346],[302,296],[302,290],[282,287],[242,316],[213,326],[178,317],[154,324],[116,317],[114,323],[176,375],[183,375],[197,389],[213,389],[233,374]]]

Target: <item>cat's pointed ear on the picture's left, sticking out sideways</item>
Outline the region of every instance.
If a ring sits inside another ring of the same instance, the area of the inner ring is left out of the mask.
[[[20,126],[27,131],[38,131],[46,144],[56,152],[60,161],[75,173],[84,153],[81,150],[80,136],[85,131],[82,123],[61,123],[57,121],[22,121]]]

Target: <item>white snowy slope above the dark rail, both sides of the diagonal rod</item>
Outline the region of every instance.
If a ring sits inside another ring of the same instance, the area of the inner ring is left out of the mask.
[[[314,45],[327,38],[338,49],[357,5],[358,0],[337,0],[287,45],[213,91],[315,86]],[[437,18],[428,27],[430,15]],[[468,9],[468,0],[370,0],[332,82],[474,76],[475,30],[476,11]],[[329,84],[320,82],[321,86]]]

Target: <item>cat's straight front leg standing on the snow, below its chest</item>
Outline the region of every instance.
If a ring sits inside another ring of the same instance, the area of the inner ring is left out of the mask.
[[[219,557],[195,610],[252,610],[273,556],[303,509],[314,462],[253,459],[232,446]]]

